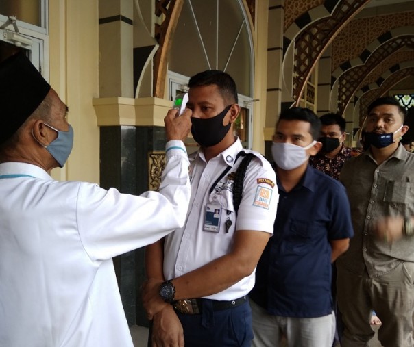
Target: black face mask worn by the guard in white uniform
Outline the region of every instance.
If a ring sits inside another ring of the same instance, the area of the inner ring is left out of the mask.
[[[223,125],[223,119],[232,105],[228,105],[222,112],[212,118],[191,117],[191,133],[195,142],[202,147],[215,146],[228,133],[232,123]]]

